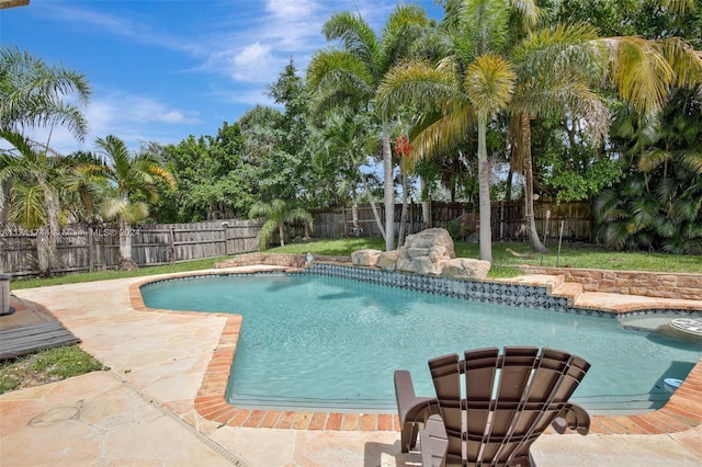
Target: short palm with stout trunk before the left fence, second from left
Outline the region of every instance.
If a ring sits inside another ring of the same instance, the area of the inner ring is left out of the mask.
[[[86,166],[81,170],[114,184],[115,195],[103,201],[100,212],[106,219],[117,219],[120,234],[120,269],[135,267],[132,260],[132,225],[148,216],[147,203],[158,200],[158,183],[176,187],[176,178],[148,153],[132,156],[124,141],[113,135],[95,140],[103,164]],[[136,201],[135,197],[145,201]]]

